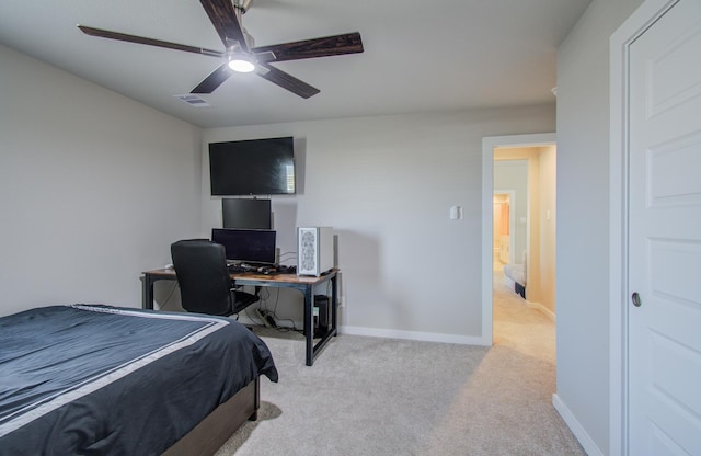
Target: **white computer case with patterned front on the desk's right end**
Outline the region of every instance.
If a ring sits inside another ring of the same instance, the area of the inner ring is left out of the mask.
[[[297,228],[297,275],[320,276],[333,266],[333,228]]]

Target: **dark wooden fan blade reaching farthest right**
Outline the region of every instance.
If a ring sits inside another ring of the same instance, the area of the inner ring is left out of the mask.
[[[363,39],[360,39],[360,34],[358,32],[354,32],[346,33],[344,35],[304,39],[301,42],[260,46],[254,47],[251,50],[256,55],[258,53],[272,52],[275,54],[275,59],[269,61],[299,60],[303,58],[358,54],[363,52]]]

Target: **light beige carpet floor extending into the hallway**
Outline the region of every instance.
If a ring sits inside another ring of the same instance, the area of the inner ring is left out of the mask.
[[[280,379],[217,456],[584,455],[551,403],[554,324],[499,286],[491,349],[341,334],[303,365],[299,334],[256,329]]]

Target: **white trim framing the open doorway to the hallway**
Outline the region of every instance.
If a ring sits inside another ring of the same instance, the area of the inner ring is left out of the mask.
[[[493,324],[493,281],[494,264],[493,239],[493,190],[494,190],[494,148],[495,147],[539,147],[554,146],[554,133],[532,135],[485,136],[482,138],[482,337],[480,344],[492,346]]]

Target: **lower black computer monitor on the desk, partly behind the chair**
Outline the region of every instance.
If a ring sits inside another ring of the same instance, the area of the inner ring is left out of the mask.
[[[228,261],[275,264],[275,235],[266,229],[212,228],[211,241],[223,246]]]

